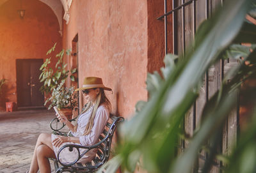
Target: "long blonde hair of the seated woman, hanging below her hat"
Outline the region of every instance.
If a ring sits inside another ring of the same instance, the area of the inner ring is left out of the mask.
[[[97,88],[93,88],[93,89],[97,89]],[[92,114],[91,114],[89,121],[84,129],[83,135],[88,135],[91,132],[92,127],[93,127],[93,121],[94,121],[94,118],[96,115],[96,111],[100,105],[104,104],[107,107],[107,109],[109,110],[109,112],[111,112],[111,103],[109,102],[108,98],[106,97],[104,89],[103,88],[99,88],[99,89],[100,89],[100,92],[96,98],[96,102],[93,107]],[[93,106],[92,102],[87,103],[85,109],[81,112],[81,114],[83,114],[84,112],[87,112],[90,109],[90,107],[92,107],[92,106]],[[81,114],[79,114],[79,116]],[[77,119],[78,119],[78,117],[77,117]],[[76,131],[77,131],[77,119],[76,119],[76,126],[75,126]]]

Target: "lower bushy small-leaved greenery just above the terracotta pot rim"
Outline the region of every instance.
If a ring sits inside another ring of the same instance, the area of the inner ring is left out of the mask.
[[[77,93],[75,93],[74,87],[63,87],[64,81],[52,90],[51,97],[45,101],[45,105],[48,102],[48,109],[56,106],[58,109],[70,108],[74,109],[77,106]]]

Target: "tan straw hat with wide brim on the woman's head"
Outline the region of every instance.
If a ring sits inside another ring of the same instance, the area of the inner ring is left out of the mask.
[[[112,91],[111,88],[105,87],[103,85],[102,79],[99,78],[99,77],[85,77],[84,82],[83,82],[83,86],[77,88],[75,91],[90,89],[90,88],[94,88],[94,87],[100,87],[100,88],[106,89],[108,91]]]

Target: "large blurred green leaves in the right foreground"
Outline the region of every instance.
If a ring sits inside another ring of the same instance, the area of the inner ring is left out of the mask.
[[[202,172],[209,172],[221,130],[228,114],[236,107],[237,92],[244,80],[255,77],[256,28],[244,19],[246,13],[255,8],[255,1],[232,0],[200,26],[193,48],[177,59],[174,55],[164,58],[165,68],[158,73],[148,74],[148,102],[139,102],[137,112],[120,128],[122,142],[117,155],[109,160],[99,172],[116,172],[122,165],[125,172],[133,172],[138,163],[148,172],[192,172],[198,153],[208,145],[208,157]],[[239,43],[252,43],[244,47]],[[179,134],[184,134],[182,123],[186,112],[198,98],[205,72],[210,66],[225,57],[244,57],[239,65],[226,73],[219,91],[205,103],[200,127],[190,139],[189,147],[177,154]],[[244,61],[250,63],[245,65]],[[163,78],[161,77],[163,76]],[[231,82],[227,79],[232,77]],[[255,89],[244,94],[255,94]],[[249,102],[255,105],[256,97]],[[256,116],[241,132],[236,147],[227,158],[225,172],[255,172],[256,167]],[[221,157],[219,157],[221,158]],[[224,162],[224,160],[222,160]]]

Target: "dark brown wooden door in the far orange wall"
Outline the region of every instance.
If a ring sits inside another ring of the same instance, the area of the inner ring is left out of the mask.
[[[44,106],[44,94],[39,89],[40,66],[43,59],[17,59],[17,105],[18,107]]]

